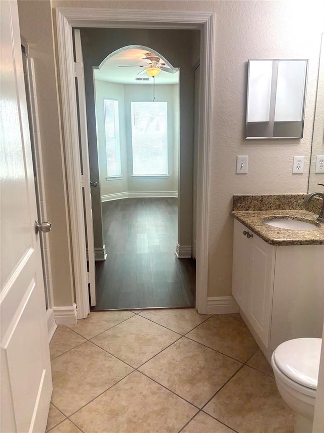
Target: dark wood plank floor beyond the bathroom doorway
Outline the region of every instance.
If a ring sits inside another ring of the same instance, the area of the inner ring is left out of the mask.
[[[102,204],[106,261],[96,262],[92,310],[194,307],[195,260],[178,259],[177,198]]]

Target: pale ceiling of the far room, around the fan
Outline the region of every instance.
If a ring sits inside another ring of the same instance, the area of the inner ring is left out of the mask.
[[[100,69],[94,69],[94,75],[97,80],[109,81],[110,83],[119,84],[152,84],[152,78],[146,73],[141,72],[144,68],[141,67],[130,67],[130,68],[119,68],[119,65],[143,65],[147,66],[147,62],[142,60],[147,50],[139,48],[130,48],[116,53],[112,57],[102,64]],[[137,78],[150,78],[149,81],[136,81]],[[179,72],[170,74],[165,71],[161,71],[157,77],[155,77],[155,84],[178,84]]]

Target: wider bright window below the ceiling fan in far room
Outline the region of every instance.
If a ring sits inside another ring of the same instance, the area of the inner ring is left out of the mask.
[[[133,175],[168,175],[168,103],[132,102]]]

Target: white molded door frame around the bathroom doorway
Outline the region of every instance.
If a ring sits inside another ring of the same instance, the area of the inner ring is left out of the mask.
[[[200,30],[200,122],[197,185],[196,310],[207,314],[208,228],[215,14],[104,8],[57,8],[57,44],[64,126],[77,318],[89,314],[87,257],[74,78],[72,27],[170,28]]]

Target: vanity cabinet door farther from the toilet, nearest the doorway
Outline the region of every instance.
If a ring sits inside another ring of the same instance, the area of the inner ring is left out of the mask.
[[[232,294],[241,310],[248,311],[249,300],[249,266],[250,266],[250,242],[251,239],[243,234],[247,228],[234,220],[233,243],[233,279]]]

